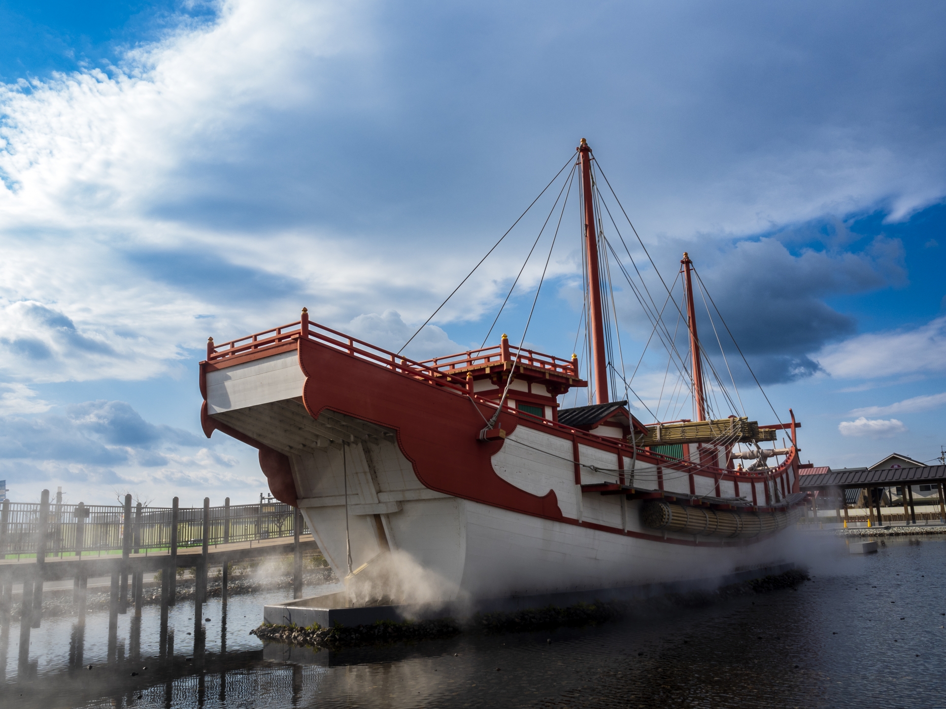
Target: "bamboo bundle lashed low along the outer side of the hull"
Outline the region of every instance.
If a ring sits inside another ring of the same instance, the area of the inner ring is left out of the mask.
[[[788,527],[800,508],[775,512],[710,510],[677,505],[663,500],[644,503],[640,520],[644,527],[695,534],[703,537],[758,537]]]

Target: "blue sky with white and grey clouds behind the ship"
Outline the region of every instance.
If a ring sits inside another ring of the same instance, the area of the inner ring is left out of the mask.
[[[605,224],[614,258],[659,299],[655,268],[669,285],[692,256],[765,392],[724,332],[710,358],[739,413],[791,407],[818,465],[935,461],[944,20],[920,1],[0,0],[0,479],[25,502],[258,499],[255,451],[201,433],[207,337],[306,306],[397,350],[582,137],[639,234]],[[407,354],[480,346],[543,199]],[[587,358],[565,214],[490,342]],[[667,354],[613,266],[615,361],[640,358],[631,406],[664,418]]]

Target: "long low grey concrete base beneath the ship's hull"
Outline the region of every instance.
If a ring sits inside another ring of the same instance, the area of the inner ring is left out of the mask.
[[[857,543],[860,544],[860,543]],[[873,544],[877,550],[876,542]],[[853,547],[854,544],[851,544]],[[657,597],[670,593],[690,593],[692,591],[711,591],[731,583],[741,583],[764,576],[782,574],[796,567],[795,563],[781,563],[756,569],[747,569],[728,574],[717,579],[694,579],[674,583],[652,583],[641,586],[623,586],[621,588],[601,588],[590,591],[573,591],[541,596],[517,596],[502,598],[482,598],[473,602],[446,602],[443,604],[403,604],[389,606],[347,605],[348,599],[343,592],[297,598],[284,603],[264,606],[263,621],[272,625],[296,625],[308,628],[318,624],[321,628],[330,628],[336,623],[346,627],[369,625],[378,620],[402,622],[404,620],[430,620],[433,618],[465,617],[475,613],[521,611],[527,608],[544,606],[570,606],[578,602],[590,603],[595,600],[637,600]]]

